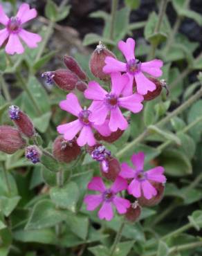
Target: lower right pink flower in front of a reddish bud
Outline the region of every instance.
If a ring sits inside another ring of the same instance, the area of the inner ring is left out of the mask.
[[[140,197],[143,193],[146,199],[151,199],[156,196],[156,188],[149,182],[155,181],[157,183],[165,183],[166,178],[163,175],[164,168],[161,166],[154,167],[153,169],[144,172],[144,159],[145,154],[140,152],[133,154],[131,161],[135,169],[131,168],[127,163],[122,163],[120,176],[125,179],[133,179],[128,187],[129,194],[135,197]]]

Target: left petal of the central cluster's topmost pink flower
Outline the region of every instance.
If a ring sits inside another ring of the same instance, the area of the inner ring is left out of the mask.
[[[126,64],[123,62],[120,62],[119,60],[114,59],[113,57],[106,57],[105,60],[105,66],[102,68],[104,73],[114,73],[118,71],[126,71]]]

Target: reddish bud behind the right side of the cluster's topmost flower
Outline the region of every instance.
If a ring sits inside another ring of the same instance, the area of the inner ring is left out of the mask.
[[[165,89],[167,91],[166,95],[169,94],[165,80],[158,80],[154,77],[147,77],[147,78],[150,81],[154,82],[154,84],[156,84],[156,89],[154,91],[148,91],[147,94],[143,95],[144,100],[154,100],[155,98],[157,98],[158,95],[160,95],[163,87],[165,87]]]

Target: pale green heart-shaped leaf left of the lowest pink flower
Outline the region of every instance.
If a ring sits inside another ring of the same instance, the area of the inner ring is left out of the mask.
[[[73,181],[64,185],[63,188],[51,188],[50,199],[60,208],[75,212],[80,191]]]

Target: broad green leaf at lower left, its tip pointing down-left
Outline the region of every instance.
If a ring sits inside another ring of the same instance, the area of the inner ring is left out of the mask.
[[[65,219],[66,213],[62,210],[57,210],[54,203],[45,199],[35,204],[25,229],[49,228]]]

